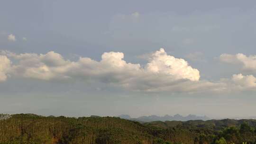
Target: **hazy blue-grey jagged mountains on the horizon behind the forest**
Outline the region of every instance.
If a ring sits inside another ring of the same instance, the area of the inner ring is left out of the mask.
[[[134,121],[142,121],[142,122],[152,122],[152,121],[188,121],[188,120],[209,120],[209,117],[203,116],[196,116],[196,115],[188,115],[188,116],[181,116],[179,114],[176,114],[174,116],[169,116],[165,115],[164,117],[160,116],[142,116],[142,117],[137,117],[137,118],[132,118],[129,115],[119,115],[118,117],[123,118],[123,119],[128,119],[128,120],[134,120]]]

